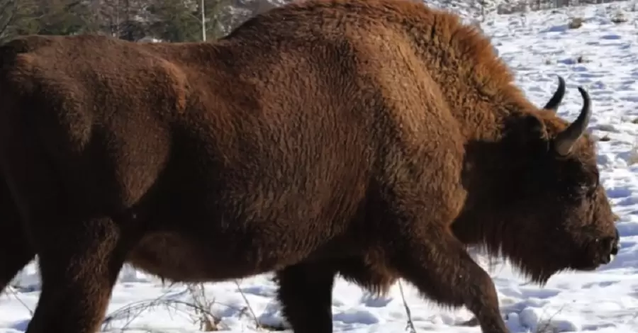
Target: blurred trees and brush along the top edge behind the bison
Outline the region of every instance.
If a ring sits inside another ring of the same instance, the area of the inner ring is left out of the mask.
[[[0,43],[30,33],[99,33],[132,41],[215,40],[257,13],[291,1],[295,0],[0,0]],[[478,17],[488,11],[513,13],[610,0],[425,2]]]

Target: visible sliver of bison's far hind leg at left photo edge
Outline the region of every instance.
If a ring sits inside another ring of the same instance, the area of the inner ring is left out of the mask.
[[[21,269],[33,260],[35,251],[31,247],[18,208],[9,188],[0,181],[0,293]]]

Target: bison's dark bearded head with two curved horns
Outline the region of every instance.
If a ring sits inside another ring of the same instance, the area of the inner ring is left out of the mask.
[[[583,108],[573,123],[556,116],[562,78],[542,110],[513,120],[494,154],[502,165],[478,168],[487,180],[469,191],[474,204],[454,225],[462,241],[484,242],[541,283],[557,271],[596,269],[618,252],[616,216],[586,133],[590,98],[578,90]]]

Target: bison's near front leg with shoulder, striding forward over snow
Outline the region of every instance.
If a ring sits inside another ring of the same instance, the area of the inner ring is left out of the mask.
[[[446,120],[446,123],[453,123]],[[449,129],[453,132],[453,129]],[[454,139],[454,136],[452,136]],[[388,264],[421,293],[442,305],[465,305],[483,333],[507,333],[496,288],[486,271],[452,233],[452,222],[464,209],[466,190],[461,145],[442,141],[404,149],[388,164],[381,181],[378,223]]]

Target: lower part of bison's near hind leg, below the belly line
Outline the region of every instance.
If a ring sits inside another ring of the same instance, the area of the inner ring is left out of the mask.
[[[59,225],[68,227],[41,243],[43,290],[27,333],[94,333],[128,247],[108,218]]]

